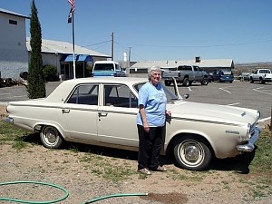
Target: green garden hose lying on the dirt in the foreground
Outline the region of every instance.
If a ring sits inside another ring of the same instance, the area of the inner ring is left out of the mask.
[[[49,201],[28,201],[28,200],[24,200],[24,199],[11,199],[11,198],[2,198],[2,197],[0,197],[0,200],[6,200],[6,201],[11,201],[11,202],[20,202],[20,203],[32,203],[32,204],[49,204],[49,203],[60,202],[63,199],[67,199],[67,197],[69,196],[69,192],[66,189],[63,189],[63,187],[54,185],[52,183],[44,183],[44,182],[38,182],[38,181],[12,181],[12,182],[0,183],[0,186],[20,184],[20,183],[34,183],[34,184],[39,184],[39,185],[44,185],[44,186],[51,186],[53,188],[63,190],[65,195],[63,196],[63,198],[49,200]],[[112,195],[109,195],[109,196],[103,196],[103,197],[99,197],[99,198],[96,198],[96,199],[91,199],[89,201],[83,202],[82,204],[88,204],[88,203],[92,203],[92,202],[97,202],[97,201],[102,200],[102,199],[110,199],[110,198],[116,198],[116,197],[147,196],[147,195],[148,195],[148,193],[112,194]]]

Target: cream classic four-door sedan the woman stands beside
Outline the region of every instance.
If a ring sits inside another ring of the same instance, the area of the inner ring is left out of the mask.
[[[5,121],[40,132],[46,148],[73,141],[138,151],[138,91],[144,83],[147,79],[132,77],[64,81],[46,98],[9,102]],[[174,87],[164,90],[172,114],[161,154],[174,155],[180,168],[205,170],[213,157],[235,157],[255,149],[260,132],[257,110],[188,102],[175,80]]]

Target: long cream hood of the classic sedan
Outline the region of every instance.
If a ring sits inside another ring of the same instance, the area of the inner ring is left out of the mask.
[[[200,102],[173,102],[168,104],[172,118],[228,122],[244,125],[257,121],[257,110]]]

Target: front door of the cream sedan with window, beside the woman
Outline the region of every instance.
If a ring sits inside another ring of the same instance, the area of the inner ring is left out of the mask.
[[[102,142],[138,146],[138,99],[124,84],[104,84],[98,109],[98,135]]]

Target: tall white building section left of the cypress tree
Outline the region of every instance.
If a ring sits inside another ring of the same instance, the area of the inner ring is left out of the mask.
[[[0,8],[0,75],[19,79],[28,71],[28,51],[25,44],[25,15]]]

